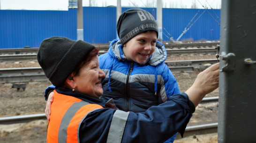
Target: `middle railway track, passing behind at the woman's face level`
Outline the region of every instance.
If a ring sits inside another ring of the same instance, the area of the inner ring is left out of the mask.
[[[165,63],[175,72],[202,71],[216,63],[216,59],[208,60],[177,60]],[[30,68],[0,68],[0,83],[27,83],[30,81],[48,81],[41,67]]]

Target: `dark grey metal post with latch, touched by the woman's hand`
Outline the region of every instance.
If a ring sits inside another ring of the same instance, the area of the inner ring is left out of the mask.
[[[256,143],[256,0],[222,0],[218,143]]]

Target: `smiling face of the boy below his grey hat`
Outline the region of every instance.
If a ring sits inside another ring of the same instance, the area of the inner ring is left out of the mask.
[[[124,44],[123,52],[128,60],[144,64],[155,51],[156,41],[156,31],[143,32]]]

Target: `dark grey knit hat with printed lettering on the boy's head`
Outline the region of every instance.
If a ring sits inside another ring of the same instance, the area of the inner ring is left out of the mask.
[[[147,30],[155,30],[158,37],[156,20],[153,15],[141,8],[132,8],[123,12],[119,16],[116,29],[121,44],[125,44],[131,38]]]

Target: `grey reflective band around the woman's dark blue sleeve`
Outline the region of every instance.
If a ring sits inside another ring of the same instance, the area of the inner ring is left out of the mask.
[[[129,112],[116,110],[109,128],[107,143],[121,143]]]

